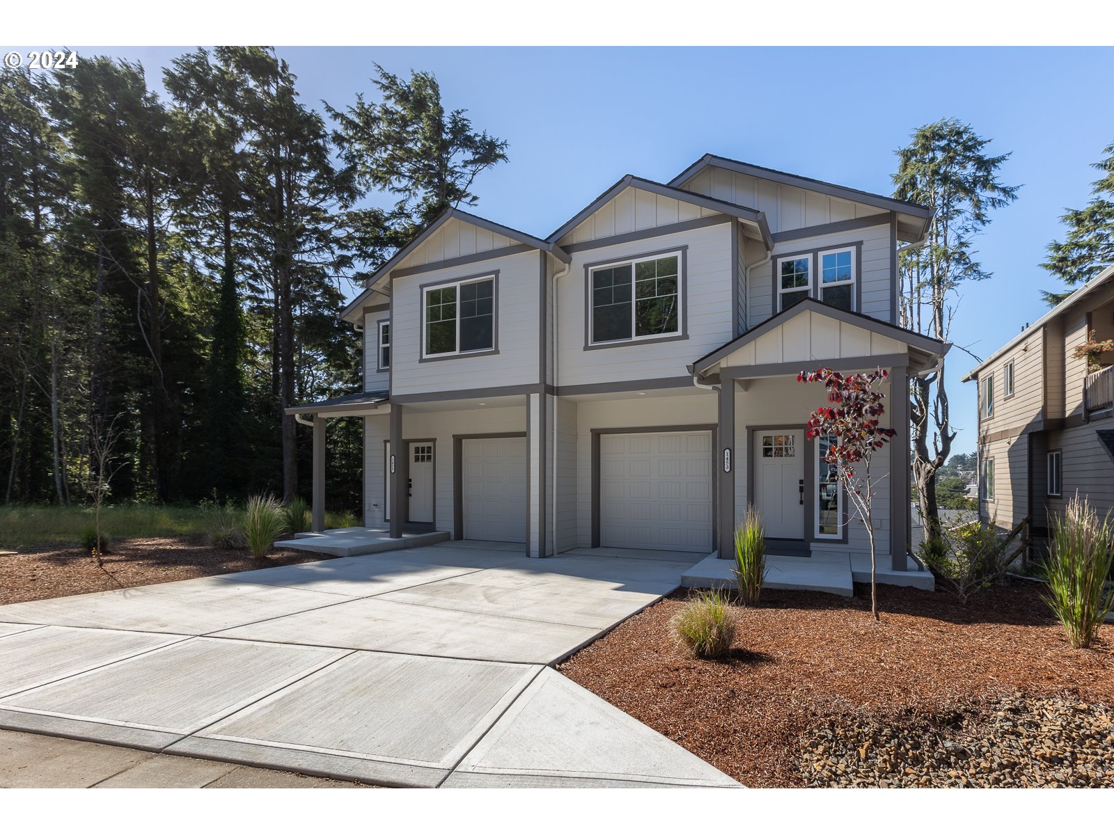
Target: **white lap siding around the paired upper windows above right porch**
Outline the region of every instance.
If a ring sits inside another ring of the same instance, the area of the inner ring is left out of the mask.
[[[862,264],[860,266],[862,285],[859,313],[893,324],[895,278],[890,272],[890,252],[893,244],[890,237],[889,215],[886,215],[878,226],[795,238],[775,244],[773,257],[768,263],[751,271],[747,293],[750,326],[754,327],[761,324],[775,312],[773,269],[780,256],[814,249],[836,249],[853,246],[860,242],[862,244]],[[813,271],[819,272],[819,266],[813,264]],[[817,277],[813,276],[813,292],[815,283]]]

